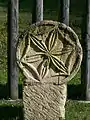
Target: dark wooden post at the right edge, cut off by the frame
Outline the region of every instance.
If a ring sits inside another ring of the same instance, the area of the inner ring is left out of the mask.
[[[83,62],[81,83],[85,100],[90,100],[90,0],[86,0],[82,24]]]

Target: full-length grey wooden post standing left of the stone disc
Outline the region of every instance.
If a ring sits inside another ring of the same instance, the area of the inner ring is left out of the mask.
[[[11,99],[18,99],[18,70],[16,64],[18,5],[19,0],[9,0],[8,2],[8,86]]]

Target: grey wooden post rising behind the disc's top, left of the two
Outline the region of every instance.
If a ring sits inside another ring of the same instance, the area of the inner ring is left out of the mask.
[[[32,23],[43,20],[43,0],[33,0]]]

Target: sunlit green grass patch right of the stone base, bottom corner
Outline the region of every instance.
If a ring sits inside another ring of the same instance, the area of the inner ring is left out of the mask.
[[[90,104],[68,101],[66,104],[66,120],[90,120]]]

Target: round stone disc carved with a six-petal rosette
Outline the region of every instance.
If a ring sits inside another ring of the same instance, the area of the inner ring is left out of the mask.
[[[82,48],[65,24],[41,21],[24,31],[17,46],[17,63],[27,82],[62,84],[80,68]]]

